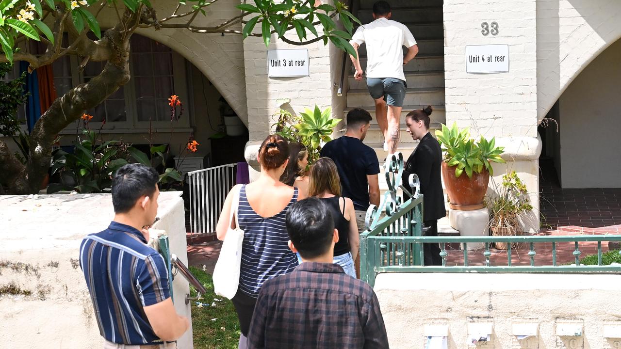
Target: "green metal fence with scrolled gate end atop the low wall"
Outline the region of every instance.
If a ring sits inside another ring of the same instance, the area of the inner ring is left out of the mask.
[[[621,267],[602,265],[602,242],[621,241],[621,235],[571,235],[571,236],[504,236],[504,237],[425,237],[422,227],[422,194],[419,194],[418,179],[410,178],[410,185],[415,189],[403,202],[397,194],[401,186],[403,170],[400,153],[392,156],[386,171],[389,191],[384,194],[381,208],[371,206],[366,217],[366,232],[360,235],[360,277],[371,284],[375,283],[378,273],[621,273]],[[403,188],[402,188],[403,189]],[[404,191],[405,192],[405,191]],[[466,243],[482,243],[480,249],[485,265],[469,265]],[[507,242],[506,265],[491,265],[490,248],[492,243]],[[580,242],[597,242],[597,265],[580,265],[582,255]],[[424,249],[422,243],[439,243],[442,266],[422,266]],[[460,243],[463,253],[463,265],[447,266],[448,251],[446,245]],[[557,263],[557,247],[560,243],[573,243],[573,265]],[[551,263],[535,263],[538,248],[551,249]],[[522,252],[530,258],[530,265],[512,265],[512,245],[521,245]],[[551,245],[551,246],[548,246]]]

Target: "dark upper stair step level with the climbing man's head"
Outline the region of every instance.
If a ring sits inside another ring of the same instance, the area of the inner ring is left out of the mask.
[[[433,6],[416,6],[414,7],[415,1],[408,1],[404,7],[391,6],[392,20],[396,20],[397,22],[408,23],[408,22],[443,22],[444,12],[442,9],[442,5],[433,4]],[[367,24],[373,21],[373,6],[360,9],[357,14],[358,19],[362,24]]]

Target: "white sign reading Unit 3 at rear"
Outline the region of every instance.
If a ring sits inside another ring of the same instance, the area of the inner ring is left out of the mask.
[[[309,50],[268,50],[270,78],[309,76]]]

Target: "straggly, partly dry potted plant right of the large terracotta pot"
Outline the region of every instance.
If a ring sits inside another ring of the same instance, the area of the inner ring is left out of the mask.
[[[519,217],[533,209],[526,185],[515,171],[502,175],[502,186],[487,199],[489,228],[494,236],[520,235]],[[506,242],[496,242],[496,248],[507,249]]]

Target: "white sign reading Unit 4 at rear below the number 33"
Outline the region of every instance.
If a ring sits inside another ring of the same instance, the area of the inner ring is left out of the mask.
[[[466,73],[507,73],[509,45],[466,46]]]

